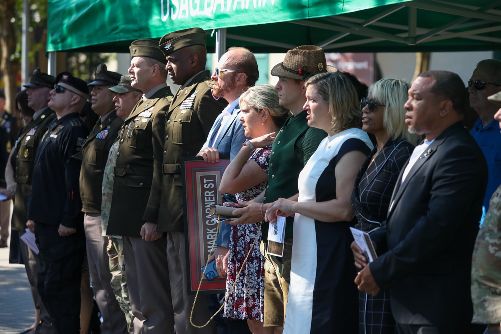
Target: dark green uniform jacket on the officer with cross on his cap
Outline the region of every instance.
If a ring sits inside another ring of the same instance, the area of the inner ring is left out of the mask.
[[[150,99],[139,100],[122,126],[107,235],[141,236],[153,179],[153,155],[162,147],[171,100],[168,86]]]

